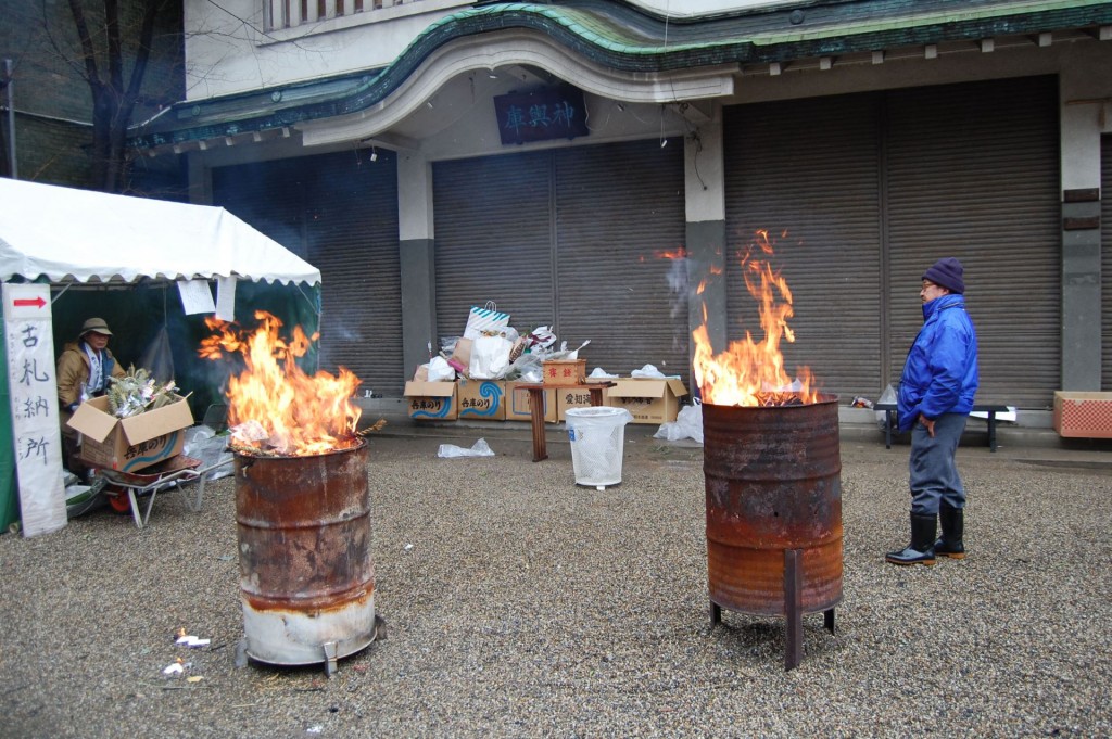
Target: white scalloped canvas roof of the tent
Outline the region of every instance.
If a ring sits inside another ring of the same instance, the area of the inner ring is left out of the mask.
[[[0,179],[0,281],[17,276],[320,282],[320,270],[224,208]]]

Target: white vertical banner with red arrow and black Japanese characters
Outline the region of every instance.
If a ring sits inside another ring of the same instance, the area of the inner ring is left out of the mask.
[[[23,536],[66,526],[50,286],[3,286],[4,341]]]

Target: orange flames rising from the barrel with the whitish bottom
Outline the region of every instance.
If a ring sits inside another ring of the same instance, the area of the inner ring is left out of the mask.
[[[259,328],[247,332],[218,318],[206,318],[214,334],[201,341],[198,353],[219,360],[242,354],[247,364],[228,380],[228,423],[249,425],[256,432],[241,446],[290,457],[321,455],[351,446],[363,410],[351,402],[360,380],[345,368],[332,376],[321,370],[312,377],[297,366],[319,334],[306,336],[294,327],[289,341],[279,338],[282,322],[259,310]]]

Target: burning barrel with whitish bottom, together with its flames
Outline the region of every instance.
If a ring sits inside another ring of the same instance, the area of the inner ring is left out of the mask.
[[[311,339],[291,341],[260,312],[245,334],[210,319],[201,354],[240,353],[228,383],[236,452],[236,523],[246,656],[271,665],[336,660],[375,640],[367,443],[350,401],[358,378],[309,377],[297,366]]]

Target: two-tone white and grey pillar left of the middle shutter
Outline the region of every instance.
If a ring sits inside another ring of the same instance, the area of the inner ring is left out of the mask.
[[[414,152],[398,153],[398,250],[401,269],[401,359],[406,379],[437,350],[436,241],[433,167]]]

